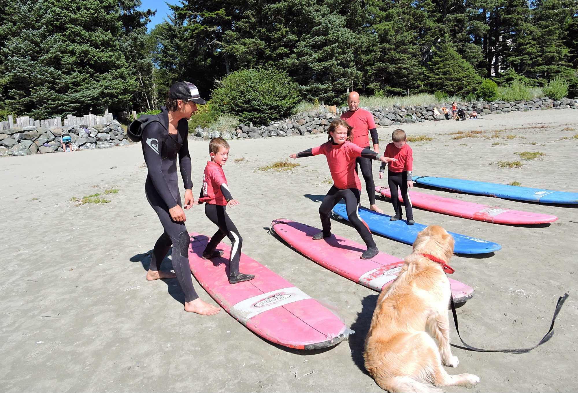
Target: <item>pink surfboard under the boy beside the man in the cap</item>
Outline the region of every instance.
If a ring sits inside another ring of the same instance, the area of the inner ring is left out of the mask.
[[[209,237],[191,233],[191,272],[214,300],[240,323],[271,342],[297,349],[330,347],[353,333],[328,308],[280,275],[241,254],[240,271],[251,281],[231,285],[227,279],[231,247],[219,243],[223,256],[202,259]]]

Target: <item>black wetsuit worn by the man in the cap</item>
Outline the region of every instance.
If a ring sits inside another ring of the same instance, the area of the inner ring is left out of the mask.
[[[177,182],[177,154],[179,167],[185,190],[191,190],[191,156],[188,152],[188,123],[181,119],[177,126],[177,134],[169,134],[169,115],[165,107],[158,114],[160,122],[150,123],[143,130],[142,148],[144,161],[147,164],[148,175],[144,192],[150,205],[161,220],[164,232],[154,245],[150,270],[158,271],[162,260],[169,251],[173,269],[184,292],[184,300],[189,302],[199,296],[192,286],[191,269],[188,264],[188,248],[190,236],[184,222],[176,222],[171,218],[169,209],[181,203],[179,184]]]

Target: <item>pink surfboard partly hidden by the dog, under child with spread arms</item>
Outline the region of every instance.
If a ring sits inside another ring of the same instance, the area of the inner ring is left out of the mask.
[[[403,259],[380,252],[373,259],[360,259],[366,247],[344,237],[331,235],[323,240],[313,240],[320,232],[314,226],[279,218],[273,220],[271,229],[287,244],[325,267],[367,288],[381,290],[397,278]],[[473,288],[450,278],[454,303],[465,303],[473,296]]]

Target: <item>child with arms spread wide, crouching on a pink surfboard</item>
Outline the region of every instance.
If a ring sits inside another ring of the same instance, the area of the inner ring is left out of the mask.
[[[316,233],[313,240],[320,240],[324,237],[331,236],[331,221],[329,220],[329,213],[331,209],[341,200],[345,199],[347,210],[347,217],[351,225],[357,229],[361,238],[367,246],[367,251],[361,255],[361,259],[371,259],[377,255],[375,241],[369,232],[369,228],[363,222],[358,213],[358,207],[361,196],[361,182],[357,173],[355,173],[355,158],[366,157],[372,160],[380,160],[383,163],[393,161],[393,158],[381,156],[381,154],[373,152],[373,150],[362,149],[351,140],[351,127],[343,119],[335,119],[329,125],[327,134],[329,134],[329,142],[323,143],[317,148],[307,149],[301,153],[291,154],[291,158],[301,158],[317,156],[317,154],[324,154],[329,164],[329,171],[333,179],[334,185],[329,188],[327,195],[321,202],[319,207],[319,216],[321,217],[321,225],[323,231]]]

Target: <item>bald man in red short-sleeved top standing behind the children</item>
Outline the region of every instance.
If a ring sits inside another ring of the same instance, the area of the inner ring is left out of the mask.
[[[373,142],[373,151],[379,153],[379,138],[377,137],[377,126],[371,112],[360,108],[360,95],[357,92],[349,93],[347,97],[349,111],[341,115],[351,127],[353,127],[353,143],[360,148],[369,149],[369,134]],[[369,196],[369,209],[383,213],[375,204],[375,183],[373,183],[372,162],[369,158],[357,157],[355,159],[355,172],[358,172],[357,165],[361,167],[361,175],[365,181],[365,190]]]

